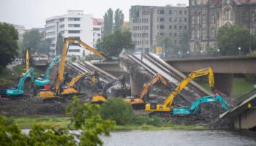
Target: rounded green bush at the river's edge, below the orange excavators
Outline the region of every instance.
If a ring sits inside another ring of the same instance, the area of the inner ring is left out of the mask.
[[[116,120],[118,125],[127,125],[132,122],[132,105],[124,102],[124,99],[108,99],[102,104],[100,114],[105,120]]]

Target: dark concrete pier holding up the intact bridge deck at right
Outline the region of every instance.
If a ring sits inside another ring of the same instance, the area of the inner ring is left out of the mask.
[[[215,87],[230,97],[233,88],[233,74],[215,73],[214,80]]]

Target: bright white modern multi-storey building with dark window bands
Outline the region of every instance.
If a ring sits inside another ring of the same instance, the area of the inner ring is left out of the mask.
[[[81,39],[86,44],[93,45],[93,17],[83,14],[83,10],[69,10],[67,14],[46,19],[45,37],[53,40],[53,50],[59,34],[65,38]],[[69,46],[68,55],[83,56],[83,48]],[[89,51],[85,51],[89,53]]]

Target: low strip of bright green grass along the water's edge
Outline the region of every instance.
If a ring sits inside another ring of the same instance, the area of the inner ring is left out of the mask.
[[[10,120],[17,123],[22,129],[30,129],[34,124],[40,124],[42,126],[53,126],[55,128],[64,128],[70,122],[70,117],[61,116],[38,116],[38,117],[10,117]],[[159,126],[152,126],[148,124],[130,124],[128,126],[118,126],[114,127],[115,131],[130,131],[130,130],[167,130],[167,129],[206,129],[203,126],[186,126],[178,125],[174,123],[161,123]]]

